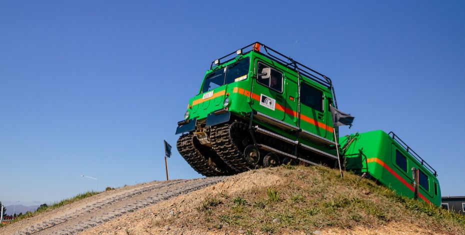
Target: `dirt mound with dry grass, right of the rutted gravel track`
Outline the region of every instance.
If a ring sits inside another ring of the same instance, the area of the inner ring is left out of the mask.
[[[81,234],[465,234],[465,216],[322,166],[237,174]]]

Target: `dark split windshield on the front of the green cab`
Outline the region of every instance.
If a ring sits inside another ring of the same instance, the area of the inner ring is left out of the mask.
[[[234,79],[248,73],[250,60],[248,58],[229,64],[226,67],[210,72],[205,76],[201,92],[212,90],[218,86],[234,82]],[[245,78],[244,78],[245,79]]]

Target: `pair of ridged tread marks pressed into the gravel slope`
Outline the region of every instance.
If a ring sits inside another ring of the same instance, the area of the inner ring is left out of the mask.
[[[187,192],[194,191],[194,190],[206,187],[208,185],[217,183],[217,182],[223,180],[224,178],[225,177],[210,177],[210,178],[203,178],[203,179],[178,180],[178,181],[174,181],[174,182],[167,182],[167,183],[162,183],[162,184],[142,188],[140,190],[134,190],[134,192],[131,192],[129,194],[140,194],[143,191],[159,189],[159,188],[162,188],[162,187],[169,187],[169,186],[173,186],[173,185],[176,185],[176,184],[179,184],[179,183],[184,183],[184,182],[191,181],[191,183],[188,183],[187,185],[178,186],[178,187],[175,187],[174,189],[166,190],[166,191],[164,191],[162,193],[157,193],[156,196],[147,197],[145,199],[137,200],[134,203],[127,204],[127,205],[125,205],[123,207],[115,208],[110,212],[106,212],[106,213],[103,213],[103,214],[97,214],[96,216],[93,216],[88,220],[78,222],[78,223],[76,223],[74,225],[68,226],[65,229],[62,229],[62,230],[59,230],[59,231],[54,231],[51,234],[60,234],[60,235],[75,234],[75,233],[81,232],[81,231],[83,231],[83,230],[85,230],[87,228],[93,227],[93,226],[95,226],[97,224],[100,224],[100,223],[106,222],[106,221],[108,221],[110,219],[113,219],[115,217],[121,216],[124,213],[133,212],[133,211],[135,211],[135,210],[137,210],[139,208],[148,206],[150,204],[155,204],[155,203],[158,203],[158,202],[160,202],[162,200],[166,200],[168,198],[171,198],[171,197],[174,197],[174,196],[177,196],[177,195],[180,195],[180,194],[185,194]],[[126,194],[124,194],[123,196],[128,196]],[[116,201],[119,201],[121,199],[123,199],[123,198],[121,198],[119,196],[116,196],[116,197],[113,197],[113,198],[109,198],[106,201],[99,201],[99,202],[96,202],[96,203],[94,203],[92,205],[89,205],[89,206],[81,209],[81,211],[76,211],[73,214],[64,215],[64,216],[61,216],[61,217],[58,217],[58,218],[52,218],[52,219],[50,219],[48,221],[45,221],[45,222],[42,222],[40,224],[31,226],[31,227],[29,227],[28,229],[26,229],[24,231],[15,232],[14,234],[28,235],[28,234],[34,234],[34,233],[37,233],[37,232],[43,233],[43,232],[45,232],[44,231],[45,229],[50,228],[50,227],[52,227],[54,225],[58,225],[60,223],[64,223],[64,222],[66,222],[66,221],[68,221],[68,220],[70,220],[72,218],[76,218],[79,214],[82,214],[84,212],[89,213],[92,210],[99,209],[104,205],[109,205],[112,202],[116,202]],[[48,234],[48,232],[46,232],[46,233]]]

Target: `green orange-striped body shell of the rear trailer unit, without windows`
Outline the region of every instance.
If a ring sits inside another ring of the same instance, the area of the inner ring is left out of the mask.
[[[374,130],[352,134],[349,137],[354,137],[354,140],[344,153],[347,170],[356,173],[367,172],[382,184],[394,189],[398,194],[413,198],[411,168],[415,167],[420,169],[428,178],[429,188],[426,190],[419,185],[419,193],[431,203],[440,205],[441,194],[436,176],[387,133],[382,130]],[[347,139],[347,136],[340,137],[340,144],[343,146]],[[396,164],[396,150],[406,157],[407,171]]]

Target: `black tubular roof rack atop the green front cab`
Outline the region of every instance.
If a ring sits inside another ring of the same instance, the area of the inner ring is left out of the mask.
[[[258,44],[258,49],[255,49],[256,44]],[[262,53],[262,52],[259,51],[259,46],[263,47],[265,53]],[[244,49],[247,49],[249,47],[250,47],[249,50],[243,51]],[[266,46],[265,44],[263,44],[261,42],[255,41],[255,42],[253,42],[253,43],[251,43],[249,45],[246,45],[246,46],[244,46],[244,47],[242,47],[242,48],[240,48],[240,49],[238,49],[238,50],[236,50],[234,52],[226,54],[223,57],[218,58],[217,62],[219,62],[221,59],[229,57],[229,56],[231,56],[233,54],[239,54],[238,53],[239,50],[240,50],[241,54],[249,52],[251,50],[254,50],[257,53],[260,53],[260,54],[268,57],[269,59],[272,59],[272,60],[274,60],[274,61],[276,61],[276,62],[278,62],[278,63],[280,63],[280,64],[282,64],[282,65],[284,65],[284,66],[286,66],[286,67],[288,67],[290,69],[292,69],[292,70],[294,70],[295,72],[297,72],[297,74],[300,73],[300,74],[304,75],[305,78],[311,79],[311,80],[313,80],[313,81],[315,81],[315,82],[317,82],[317,83],[319,83],[319,84],[321,84],[323,86],[328,87],[329,89],[331,89],[331,92],[332,92],[332,99],[334,101],[334,107],[337,108],[337,101],[336,101],[336,94],[335,94],[335,91],[334,91],[334,86],[332,85],[332,81],[331,81],[331,79],[329,77],[327,77],[326,75],[324,75],[322,73],[319,73],[318,71],[316,71],[314,69],[311,69],[308,66],[303,65],[300,62],[295,61],[291,57],[286,56],[286,55],[284,55],[284,54],[282,54],[282,53],[280,53],[280,52]],[[227,62],[227,61],[233,59],[234,57],[235,56],[227,59],[224,62]],[[216,61],[216,59],[211,62],[210,69],[213,67],[213,64],[215,64],[215,61]]]

